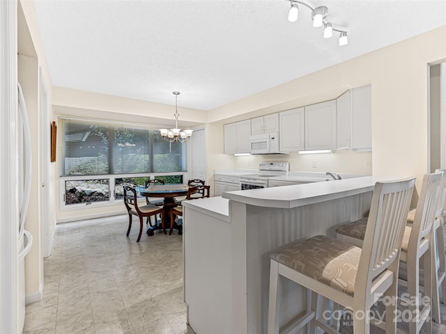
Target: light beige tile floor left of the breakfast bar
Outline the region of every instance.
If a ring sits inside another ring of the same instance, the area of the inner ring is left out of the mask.
[[[24,334],[193,334],[183,303],[176,231],[136,242],[128,216],[59,224],[44,260],[43,300],[26,305]]]

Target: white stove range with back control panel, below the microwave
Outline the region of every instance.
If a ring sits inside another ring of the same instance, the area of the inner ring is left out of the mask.
[[[259,173],[240,176],[240,189],[268,188],[268,178],[283,176],[289,172],[289,162],[261,162]]]

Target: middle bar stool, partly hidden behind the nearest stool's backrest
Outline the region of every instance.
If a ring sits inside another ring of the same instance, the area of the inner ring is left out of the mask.
[[[410,315],[416,317],[410,319],[409,333],[420,333],[420,330],[426,322],[431,328],[431,306],[437,303],[432,299],[432,287],[435,284],[433,280],[433,268],[435,267],[435,247],[433,247],[433,224],[436,214],[438,212],[438,193],[440,191],[441,182],[443,182],[443,173],[426,174],[423,177],[422,189],[420,197],[418,198],[417,208],[411,212],[414,214],[413,221],[404,228],[403,241],[401,244],[401,258],[400,262],[407,265],[406,280],[400,280],[400,283],[407,284],[408,295],[410,301],[408,310]],[[410,217],[410,214],[408,214]],[[408,218],[406,218],[406,222]],[[337,229],[337,239],[362,246],[365,238],[365,232],[368,228],[368,221],[362,218],[360,221],[353,221],[340,225]],[[423,264],[423,268],[421,268]],[[420,311],[420,269],[424,278],[424,295],[429,298],[429,305],[421,305]],[[439,316],[438,316],[439,317]]]

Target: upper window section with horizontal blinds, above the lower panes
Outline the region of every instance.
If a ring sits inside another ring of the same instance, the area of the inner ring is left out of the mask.
[[[117,175],[184,171],[185,145],[164,141],[157,129],[112,122],[63,122],[62,175]]]

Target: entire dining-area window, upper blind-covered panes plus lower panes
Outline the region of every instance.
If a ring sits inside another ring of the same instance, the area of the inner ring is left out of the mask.
[[[144,188],[151,178],[183,182],[185,145],[164,141],[158,129],[68,118],[60,123],[63,207],[122,200],[123,184]]]

